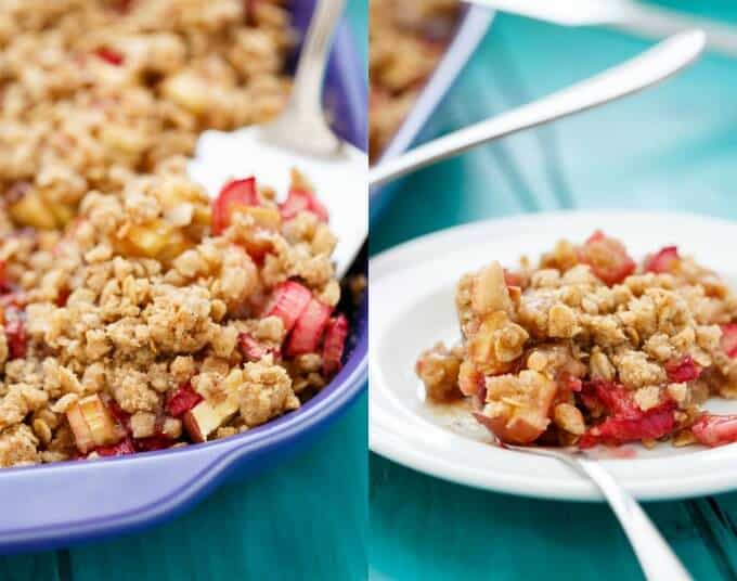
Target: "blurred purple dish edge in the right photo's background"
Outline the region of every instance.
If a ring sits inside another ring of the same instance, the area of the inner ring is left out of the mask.
[[[402,122],[379,157],[378,164],[384,159],[401,155],[417,143],[419,132],[425,128],[430,116],[440,106],[443,98],[457,79],[466,63],[470,60],[474,51],[489,30],[493,17],[494,12],[482,7],[467,5],[464,9],[453,40],[448,46],[435,72],[425,83],[406,119],[404,119],[404,122]],[[398,183],[388,183],[380,188],[372,189],[370,205],[371,223],[386,208]]]

